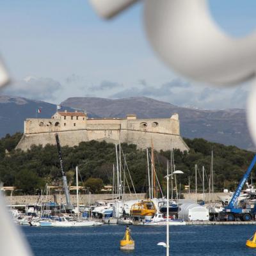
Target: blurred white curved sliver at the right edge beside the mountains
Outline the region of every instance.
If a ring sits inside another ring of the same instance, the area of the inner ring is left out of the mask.
[[[249,127],[250,134],[254,145],[256,145],[256,79],[252,84],[252,92],[248,93],[247,100],[247,124]]]

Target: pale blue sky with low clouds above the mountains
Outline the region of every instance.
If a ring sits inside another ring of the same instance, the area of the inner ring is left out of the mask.
[[[255,0],[210,0],[209,8],[230,36],[255,29]],[[245,108],[250,92],[250,83],[222,89],[165,67],[145,36],[143,1],[106,21],[84,0],[1,0],[0,55],[12,76],[1,94],[56,104],[145,96],[178,106]]]

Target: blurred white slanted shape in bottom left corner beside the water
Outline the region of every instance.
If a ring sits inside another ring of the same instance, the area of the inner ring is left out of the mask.
[[[29,246],[23,239],[23,234],[13,223],[8,214],[2,195],[0,195],[0,255],[30,256],[32,255]]]

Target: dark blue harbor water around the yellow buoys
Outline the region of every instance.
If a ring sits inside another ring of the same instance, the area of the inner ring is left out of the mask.
[[[133,252],[122,252],[119,248],[125,226],[22,227],[22,231],[36,256],[165,255],[165,248],[157,246],[166,237],[166,227],[163,226],[131,226],[132,239],[135,241]],[[256,255],[256,250],[245,246],[246,239],[255,231],[254,225],[170,227],[170,255]]]

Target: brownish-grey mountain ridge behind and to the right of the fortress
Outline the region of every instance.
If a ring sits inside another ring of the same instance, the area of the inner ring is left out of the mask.
[[[85,109],[91,115],[99,117],[124,118],[127,114],[136,114],[138,118],[168,118],[173,113],[179,113],[180,132],[186,138],[204,138],[225,145],[255,150],[246,124],[245,109],[184,108],[147,97],[72,97],[61,104],[70,108]]]

